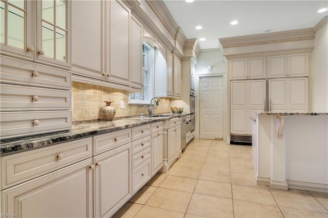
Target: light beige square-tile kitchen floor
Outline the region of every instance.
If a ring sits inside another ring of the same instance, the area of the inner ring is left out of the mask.
[[[193,140],[114,217],[328,217],[328,194],[256,184],[252,147]]]

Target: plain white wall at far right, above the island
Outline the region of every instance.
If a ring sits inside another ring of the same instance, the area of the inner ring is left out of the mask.
[[[312,111],[328,112],[328,24],[315,34],[312,52]]]

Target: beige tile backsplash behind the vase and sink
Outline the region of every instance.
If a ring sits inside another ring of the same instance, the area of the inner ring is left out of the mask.
[[[113,101],[111,105],[116,110],[115,118],[138,116],[144,106],[128,104],[129,92],[127,91],[80,82],[72,83],[72,96],[73,122],[103,119],[99,112],[100,108],[106,105],[104,101]],[[153,108],[153,113],[170,113],[170,98],[160,99],[159,105]],[[125,102],[124,109],[120,109],[120,101]],[[148,114],[147,108],[144,109],[144,114]]]

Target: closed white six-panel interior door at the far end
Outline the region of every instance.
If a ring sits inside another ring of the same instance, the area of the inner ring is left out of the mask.
[[[201,139],[223,138],[223,78],[200,77],[199,112]]]

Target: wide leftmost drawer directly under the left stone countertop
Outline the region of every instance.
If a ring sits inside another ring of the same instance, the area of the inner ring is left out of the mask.
[[[1,157],[1,190],[92,156],[92,138]]]

